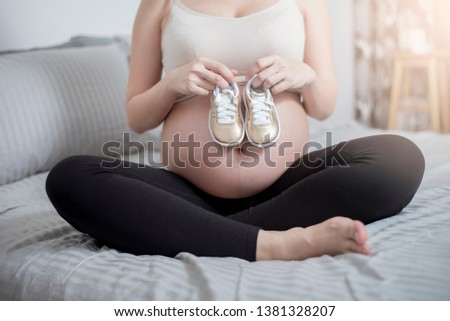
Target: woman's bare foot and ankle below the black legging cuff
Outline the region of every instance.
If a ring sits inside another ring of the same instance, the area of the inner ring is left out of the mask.
[[[258,234],[256,260],[303,260],[347,252],[370,254],[363,223],[346,217],[333,217],[307,228]]]

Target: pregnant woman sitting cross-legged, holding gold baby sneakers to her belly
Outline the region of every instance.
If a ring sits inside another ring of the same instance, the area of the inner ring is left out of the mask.
[[[399,213],[424,171],[396,135],[304,152],[334,110],[325,0],[142,0],[126,110],[164,122],[165,168],[57,164],[47,193],[78,230],[134,254],[301,260],[370,254],[364,224]]]

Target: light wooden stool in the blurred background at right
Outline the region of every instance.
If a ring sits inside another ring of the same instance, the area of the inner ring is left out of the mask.
[[[446,55],[440,53],[413,54],[398,53],[394,56],[394,73],[392,79],[391,106],[389,110],[388,129],[397,127],[400,108],[426,109],[431,116],[431,128],[435,131],[450,131],[450,112],[448,107],[447,68],[443,68]],[[445,65],[446,66],[446,65]],[[428,100],[424,104],[411,101],[401,104],[402,98],[411,97],[412,69],[425,69],[428,83]],[[404,88],[402,88],[402,85]],[[403,93],[402,93],[403,89]],[[402,94],[406,94],[403,96]],[[443,124],[441,127],[441,113]]]

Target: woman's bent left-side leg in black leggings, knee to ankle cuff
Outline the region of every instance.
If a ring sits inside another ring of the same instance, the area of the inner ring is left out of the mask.
[[[258,228],[209,210],[209,199],[183,178],[135,163],[103,161],[69,157],[47,177],[49,199],[76,229],[135,254],[187,251],[254,260]]]

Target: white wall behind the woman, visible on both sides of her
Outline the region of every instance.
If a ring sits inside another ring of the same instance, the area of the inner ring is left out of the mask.
[[[327,0],[339,83],[333,118],[353,116],[352,0]],[[0,0],[0,51],[48,46],[75,34],[130,34],[140,0]]]

